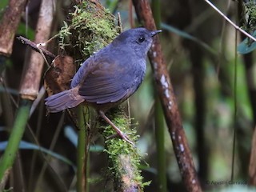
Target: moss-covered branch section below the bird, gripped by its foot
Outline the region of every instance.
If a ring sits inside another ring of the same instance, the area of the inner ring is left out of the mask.
[[[130,118],[126,116],[121,107],[110,110],[110,113],[106,115],[122,132],[129,134],[131,142],[137,141],[136,130],[130,128]],[[110,138],[105,142],[105,152],[109,157],[111,178],[114,178],[114,191],[143,191],[141,170],[138,169],[141,162],[138,149],[119,138],[114,129],[106,125],[106,122],[102,121],[101,127],[104,137]],[[117,137],[113,138],[113,135]]]

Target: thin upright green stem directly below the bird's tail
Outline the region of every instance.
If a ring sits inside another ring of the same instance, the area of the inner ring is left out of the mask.
[[[78,106],[78,154],[77,154],[77,191],[86,191],[85,178],[85,152],[86,152],[86,127],[85,118],[83,114],[83,106]]]

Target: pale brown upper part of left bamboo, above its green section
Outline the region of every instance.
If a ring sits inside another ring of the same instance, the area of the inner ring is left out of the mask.
[[[51,25],[54,19],[54,5],[52,1],[42,0],[38,25],[36,28],[35,43],[46,42],[50,37]],[[25,77],[22,79],[20,94],[22,98],[34,100],[38,95],[44,60],[38,52],[32,52]]]

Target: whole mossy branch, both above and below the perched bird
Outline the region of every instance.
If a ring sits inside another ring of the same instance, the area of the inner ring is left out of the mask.
[[[84,1],[74,6],[71,19],[65,22],[59,34],[59,46],[72,55],[78,64],[90,54],[109,44],[117,35],[119,27],[115,26],[114,16],[98,1]],[[130,119],[120,108],[106,114],[120,130],[129,134],[131,141],[138,138],[135,130],[130,129]],[[138,169],[140,155],[138,150],[121,138],[111,136],[114,129],[102,120],[102,135],[106,139],[106,153],[109,158],[109,170],[114,176],[116,191],[142,191],[142,176]]]

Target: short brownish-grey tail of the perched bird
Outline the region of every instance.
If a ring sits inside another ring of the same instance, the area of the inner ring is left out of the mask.
[[[78,87],[74,87],[73,89],[64,90],[58,94],[51,95],[46,98],[45,101],[50,113],[57,113],[78,106],[78,104],[84,102],[84,98],[78,94]]]

